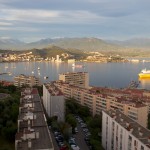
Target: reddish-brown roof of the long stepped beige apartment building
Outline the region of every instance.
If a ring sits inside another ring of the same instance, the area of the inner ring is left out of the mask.
[[[97,97],[107,98],[114,102],[118,102],[121,104],[130,105],[131,107],[145,107],[146,105],[143,102],[148,101],[148,98],[136,96],[136,93],[143,93],[144,90],[138,89],[111,89],[105,87],[92,87],[91,89],[80,88],[75,85],[70,85],[67,82],[63,81],[54,81],[53,84],[57,84],[60,86],[65,86],[68,89],[72,88],[74,90],[78,90],[80,92],[84,92],[90,95],[96,95]],[[135,92],[135,93],[134,93]],[[149,100],[150,102],[150,100]]]

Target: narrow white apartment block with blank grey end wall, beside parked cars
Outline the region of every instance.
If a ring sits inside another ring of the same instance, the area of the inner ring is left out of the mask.
[[[43,105],[49,117],[57,116],[58,121],[64,121],[64,95],[52,83],[43,84]]]

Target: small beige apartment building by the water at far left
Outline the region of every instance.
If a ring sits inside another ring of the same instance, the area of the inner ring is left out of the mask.
[[[22,86],[40,86],[40,79],[35,76],[26,76],[24,74],[20,74],[19,76],[14,77],[14,85],[18,87]]]

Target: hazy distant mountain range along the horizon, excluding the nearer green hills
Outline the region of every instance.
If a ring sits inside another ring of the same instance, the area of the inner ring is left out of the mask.
[[[80,49],[83,51],[116,51],[126,48],[150,49],[150,39],[135,38],[126,41],[112,41],[98,38],[47,38],[31,43],[25,43],[16,39],[0,39],[0,49],[6,50],[40,49],[49,46],[58,46],[65,49]]]

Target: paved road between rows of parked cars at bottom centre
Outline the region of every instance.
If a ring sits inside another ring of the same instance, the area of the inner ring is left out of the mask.
[[[80,147],[80,150],[89,150],[89,148],[84,140],[85,136],[83,134],[82,128],[80,127],[80,124],[78,124],[77,128],[78,128],[79,132],[74,135],[76,144]]]

